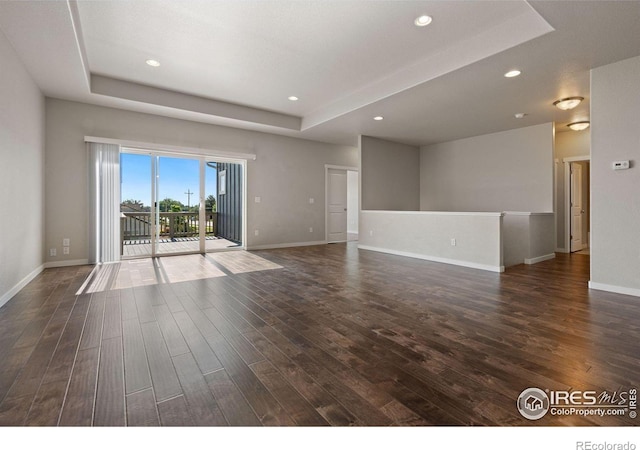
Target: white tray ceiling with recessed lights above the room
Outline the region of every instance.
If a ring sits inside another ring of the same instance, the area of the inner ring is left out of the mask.
[[[3,1],[0,30],[50,97],[424,145],[588,120],[589,69],[640,55],[640,1]]]

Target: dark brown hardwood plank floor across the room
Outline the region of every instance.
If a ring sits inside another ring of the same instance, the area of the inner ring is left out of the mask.
[[[0,309],[0,424],[640,420],[516,409],[529,387],[640,385],[640,299],[589,290],[588,255],[503,274],[355,243],[252,255],[209,258],[224,276],[80,295],[93,267],[43,272]]]

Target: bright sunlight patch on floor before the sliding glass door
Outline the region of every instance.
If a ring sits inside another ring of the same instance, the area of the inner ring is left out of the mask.
[[[282,266],[244,251],[131,259],[96,266],[77,294],[273,269]]]

